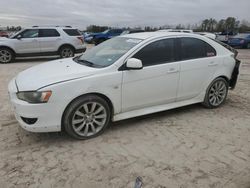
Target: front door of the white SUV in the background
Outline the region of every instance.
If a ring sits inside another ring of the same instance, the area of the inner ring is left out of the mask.
[[[15,50],[17,54],[39,53],[40,44],[38,41],[38,29],[26,29],[18,34],[14,40]],[[21,36],[20,39],[17,39]]]

